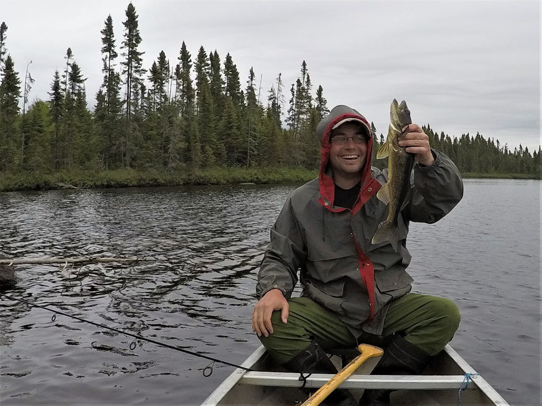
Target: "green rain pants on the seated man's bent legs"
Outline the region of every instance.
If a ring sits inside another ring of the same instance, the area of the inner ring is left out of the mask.
[[[280,311],[271,316],[273,334],[259,337],[263,346],[280,364],[285,364],[316,340],[324,350],[352,348],[358,344],[385,346],[394,333],[429,355],[436,355],[454,336],[461,316],[454,302],[446,298],[408,293],[394,300],[386,313],[382,336],[363,333],[354,337],[337,315],[308,297],[288,300],[286,324]]]

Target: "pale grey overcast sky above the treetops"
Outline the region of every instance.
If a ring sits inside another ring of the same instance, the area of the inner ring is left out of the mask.
[[[113,18],[120,47],[128,1],[0,0],[7,48],[30,101],[48,99],[70,47],[87,78],[89,107],[102,82],[101,34]],[[175,65],[183,41],[227,53],[246,87],[254,68],[261,100],[282,73],[285,99],[307,63],[331,109],[347,104],[388,131],[391,101],[406,100],[412,120],[450,136],[480,132],[513,149],[538,149],[540,18],[530,1],[174,1],[133,0],[144,67],[164,50]],[[119,54],[121,53],[118,49]],[[287,106],[286,106],[287,107]]]

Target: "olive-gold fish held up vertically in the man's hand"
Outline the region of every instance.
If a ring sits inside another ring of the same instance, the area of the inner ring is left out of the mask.
[[[414,167],[414,154],[398,145],[403,128],[412,123],[410,110],[403,100],[393,99],[390,107],[390,126],[386,142],[378,149],[377,159],[388,158],[388,182],[378,189],[376,197],[389,206],[388,217],[373,235],[372,244],[389,241],[395,252],[399,252],[401,239],[397,219],[410,189],[410,173]],[[406,130],[405,130],[406,131]]]

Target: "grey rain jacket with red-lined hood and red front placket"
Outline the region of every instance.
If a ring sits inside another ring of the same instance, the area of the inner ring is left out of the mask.
[[[442,152],[432,150],[431,166],[415,165],[408,202],[399,215],[402,244],[395,252],[388,242],[373,245],[371,239],[386,217],[388,206],[376,192],[388,181],[388,170],[370,166],[372,136],[367,141],[358,200],[352,209],[333,205],[334,184],[328,161],[331,129],[345,119],[361,120],[367,134],[369,123],[356,110],[337,106],[317,127],[321,140],[318,179],[295,189],[286,200],[271,230],[258,274],[260,299],[271,289],[291,297],[300,271],[302,296],[337,313],[354,337],[362,330],[380,335],[391,300],[411,290],[405,271],[410,263],[406,249],[409,221],[433,223],[459,202],[463,182],[459,170]]]

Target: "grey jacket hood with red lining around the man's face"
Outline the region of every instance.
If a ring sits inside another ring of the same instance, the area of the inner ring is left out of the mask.
[[[365,158],[365,163],[362,168],[362,180],[361,180],[362,190],[360,190],[360,196],[362,194],[367,194],[366,193],[367,187],[369,188],[370,195],[372,195],[376,193],[376,191],[378,190],[380,186],[380,184],[376,180],[375,182],[369,182],[369,184],[371,185],[373,183],[376,183],[378,185],[378,186],[374,185],[376,187],[370,187],[367,182],[371,178],[371,155],[372,155],[372,146],[373,146],[373,134],[371,132],[371,126],[369,125],[369,122],[367,121],[367,119],[365,119],[365,117],[362,114],[358,112],[358,110],[354,110],[351,107],[344,106],[344,104],[340,104],[339,106],[333,107],[330,114],[328,114],[326,117],[320,120],[316,128],[316,135],[318,136],[318,139],[320,140],[320,143],[321,143],[320,173],[318,175],[319,186],[320,186],[320,202],[322,205],[331,209],[332,211],[343,211],[343,208],[338,208],[338,209],[333,208],[335,186],[333,184],[331,171],[328,170],[327,168],[328,163],[330,161],[330,150],[331,150],[330,136],[331,136],[331,131],[334,128],[337,128],[348,121],[358,121],[360,124],[362,124],[363,128],[365,128],[366,135],[367,135],[367,154]],[[367,197],[367,199],[369,199],[369,197]],[[363,205],[363,203],[367,199],[362,201],[361,204],[354,205],[353,211],[359,210],[359,208]]]

